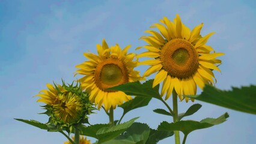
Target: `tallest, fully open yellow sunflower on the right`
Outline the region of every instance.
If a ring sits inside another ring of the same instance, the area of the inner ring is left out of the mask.
[[[153,87],[163,82],[161,95],[166,94],[165,100],[170,97],[173,89],[180,100],[183,100],[183,95],[195,95],[197,86],[203,89],[206,83],[214,85],[216,79],[212,70],[221,72],[216,66],[221,64],[221,60],[216,57],[224,55],[224,53],[215,53],[212,47],[206,45],[209,37],[215,32],[201,37],[203,23],[190,31],[181,23],[178,14],[174,22],[163,17],[160,23],[150,27],[159,29],[160,34],[148,30],[145,32],[151,35],[141,37],[148,43],[144,46],[148,52],[139,54],[137,58],[154,58],[140,62],[140,65],[150,65],[143,77],[157,72]],[[189,98],[186,97],[186,102],[188,100]]]

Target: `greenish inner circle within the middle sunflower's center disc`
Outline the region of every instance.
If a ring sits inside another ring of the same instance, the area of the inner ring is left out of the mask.
[[[122,71],[115,64],[107,64],[102,67],[100,79],[105,85],[115,85],[122,79]]]

